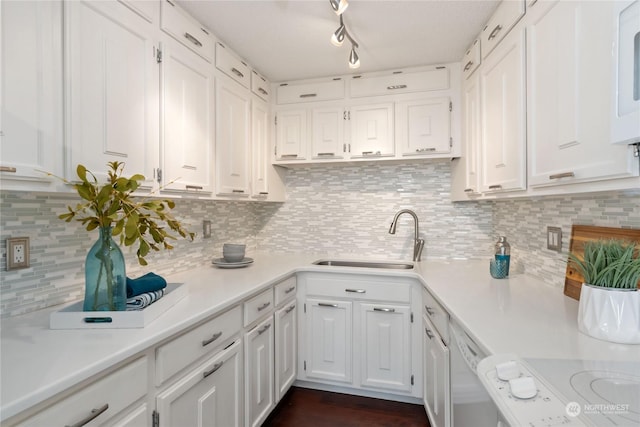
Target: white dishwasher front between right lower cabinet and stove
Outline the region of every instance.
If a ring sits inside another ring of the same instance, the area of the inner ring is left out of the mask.
[[[451,319],[451,407],[453,427],[495,427],[498,408],[480,382],[478,363],[487,355],[469,335]]]

